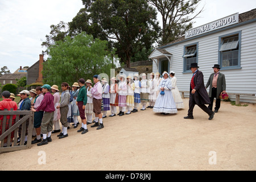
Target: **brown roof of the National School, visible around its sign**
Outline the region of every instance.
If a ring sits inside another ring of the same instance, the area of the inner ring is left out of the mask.
[[[256,9],[246,11],[245,13],[239,14],[239,22],[237,24],[240,24],[242,22],[247,22],[248,20],[252,20],[252,19],[256,19]],[[223,28],[225,28],[225,27],[223,27]],[[222,28],[220,28],[218,30],[221,30],[221,29]],[[214,32],[214,31],[212,31],[212,32]],[[200,35],[198,35],[198,36],[200,36]],[[197,37],[197,36],[195,36],[195,37]],[[193,38],[195,38],[195,37],[193,37]],[[159,47],[168,47],[168,46],[171,46],[171,44],[178,43],[178,42],[181,42],[183,40],[185,40],[185,35],[182,36],[179,39],[176,39],[176,40],[174,40],[170,43],[167,43],[167,44],[163,44],[162,46],[159,46]],[[186,40],[191,40],[191,38],[188,38]]]

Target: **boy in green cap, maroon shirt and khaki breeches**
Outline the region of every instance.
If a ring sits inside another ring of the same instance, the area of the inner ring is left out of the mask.
[[[53,104],[54,97],[51,94],[51,86],[48,84],[44,84],[42,87],[42,91],[44,93],[44,98],[39,107],[35,110],[31,108],[32,111],[39,111],[43,110],[44,115],[41,123],[41,130],[43,133],[43,141],[38,143],[38,146],[42,146],[44,144],[48,144],[51,142],[51,134],[52,134],[52,126],[53,126],[53,116],[55,107]]]

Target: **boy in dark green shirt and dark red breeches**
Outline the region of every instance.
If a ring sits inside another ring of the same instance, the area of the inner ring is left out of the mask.
[[[79,85],[81,88],[79,89],[79,94],[76,100],[76,104],[79,108],[79,114],[82,120],[82,127],[79,130],[77,130],[77,132],[82,132],[82,134],[85,134],[88,132],[88,129],[87,129],[87,123],[85,118],[85,106],[87,104],[87,90],[85,88],[84,78],[79,79]]]

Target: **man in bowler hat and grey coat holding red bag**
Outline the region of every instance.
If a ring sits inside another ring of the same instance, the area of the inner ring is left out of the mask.
[[[209,79],[207,84],[205,85],[205,88],[209,87],[209,97],[210,97],[210,104],[208,106],[208,108],[210,110],[212,110],[212,106],[213,106],[213,101],[214,101],[214,97],[216,98],[216,103],[215,103],[215,107],[214,107],[214,113],[218,112],[218,109],[220,109],[220,94],[221,92],[226,90],[226,79],[225,79],[225,75],[223,73],[220,73],[220,65],[218,64],[214,64],[213,68],[213,72]]]

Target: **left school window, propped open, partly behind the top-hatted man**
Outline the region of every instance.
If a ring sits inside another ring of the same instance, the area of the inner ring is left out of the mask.
[[[184,46],[184,54],[182,56],[184,60],[184,72],[190,72],[191,63],[197,63],[197,50],[198,43]]]

